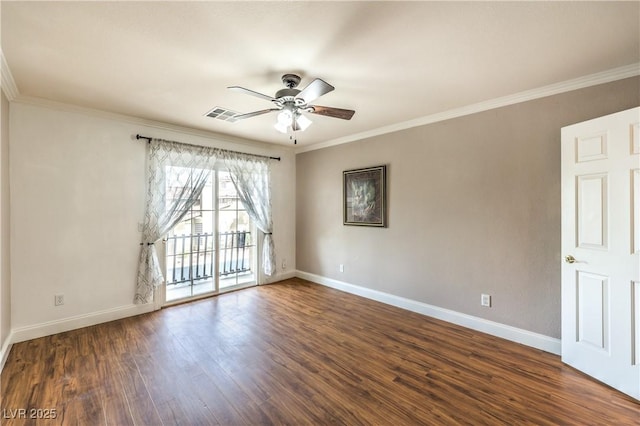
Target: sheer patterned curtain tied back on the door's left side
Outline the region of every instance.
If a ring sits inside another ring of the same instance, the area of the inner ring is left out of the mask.
[[[204,146],[152,139],[135,303],[149,303],[164,278],[155,243],[178,223],[198,200],[218,156]],[[170,172],[172,180],[167,182]]]

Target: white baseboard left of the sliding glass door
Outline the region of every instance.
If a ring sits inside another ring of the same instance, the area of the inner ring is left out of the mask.
[[[25,340],[37,339],[69,330],[76,330],[78,328],[89,327],[134,315],[145,314],[153,310],[153,303],[147,303],[146,305],[126,305],[89,314],[28,325],[26,327],[18,327],[12,330],[11,343],[24,342]]]

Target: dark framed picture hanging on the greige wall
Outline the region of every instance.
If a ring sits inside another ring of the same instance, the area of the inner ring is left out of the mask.
[[[387,167],[345,170],[342,173],[343,224],[387,226]]]

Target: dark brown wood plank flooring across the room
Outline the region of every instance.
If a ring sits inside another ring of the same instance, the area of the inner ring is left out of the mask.
[[[1,382],[2,425],[640,424],[558,356],[299,279],[18,343]]]

